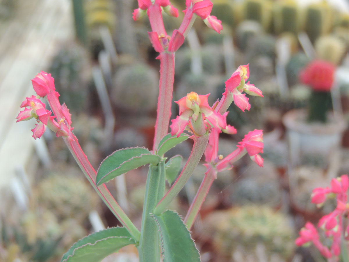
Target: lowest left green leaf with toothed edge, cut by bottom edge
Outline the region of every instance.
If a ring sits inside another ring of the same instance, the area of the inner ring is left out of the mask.
[[[98,262],[121,247],[135,243],[126,228],[107,228],[77,241],[63,255],[61,262]]]

